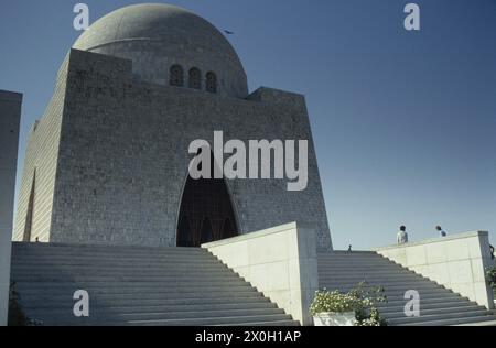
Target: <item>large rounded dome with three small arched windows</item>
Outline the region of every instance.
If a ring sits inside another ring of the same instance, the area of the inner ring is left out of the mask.
[[[186,88],[195,69],[202,79],[197,89],[208,89],[213,73],[219,95],[248,95],[245,69],[226,37],[203,18],[175,6],[144,3],[116,10],[90,25],[73,48],[131,59],[136,78],[147,83],[171,85],[171,72],[180,66]]]

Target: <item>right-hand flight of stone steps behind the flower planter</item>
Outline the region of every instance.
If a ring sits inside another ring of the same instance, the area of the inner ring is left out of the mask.
[[[362,282],[382,286],[388,303],[378,309],[390,326],[448,326],[496,324],[496,315],[485,307],[411,272],[375,252],[319,254],[321,289],[347,292]],[[406,317],[403,298],[408,290],[420,294],[420,317]]]

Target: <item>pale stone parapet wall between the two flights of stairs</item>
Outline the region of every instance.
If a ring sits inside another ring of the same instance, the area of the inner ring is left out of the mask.
[[[302,325],[319,289],[315,232],[288,224],[202,246]]]

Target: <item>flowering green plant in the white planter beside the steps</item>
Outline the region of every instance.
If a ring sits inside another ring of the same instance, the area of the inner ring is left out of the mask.
[[[377,303],[386,302],[384,289],[369,286],[362,282],[347,294],[338,291],[317,291],[310,306],[310,314],[355,312],[356,326],[386,326],[387,322],[380,317]]]

